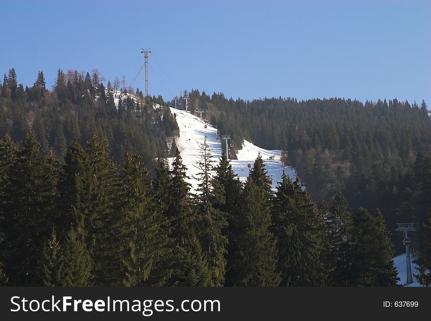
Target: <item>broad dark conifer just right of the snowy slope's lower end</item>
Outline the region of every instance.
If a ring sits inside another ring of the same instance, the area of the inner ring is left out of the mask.
[[[321,225],[310,196],[302,191],[298,179],[292,183],[283,173],[273,203],[280,285],[324,285]]]

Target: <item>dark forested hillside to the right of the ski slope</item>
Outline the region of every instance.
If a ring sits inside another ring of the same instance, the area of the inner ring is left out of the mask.
[[[222,135],[287,151],[315,202],[341,190],[354,210],[381,208],[391,230],[397,222],[415,222],[421,234],[428,223],[431,121],[425,101],[244,101],[197,90],[189,96],[192,109],[204,108]],[[401,245],[401,236],[395,240]]]

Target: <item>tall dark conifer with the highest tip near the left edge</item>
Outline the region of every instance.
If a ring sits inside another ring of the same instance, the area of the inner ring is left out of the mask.
[[[10,172],[2,204],[4,220],[4,271],[11,285],[37,285],[38,254],[49,238],[56,216],[56,182],[40,144],[28,132]]]

